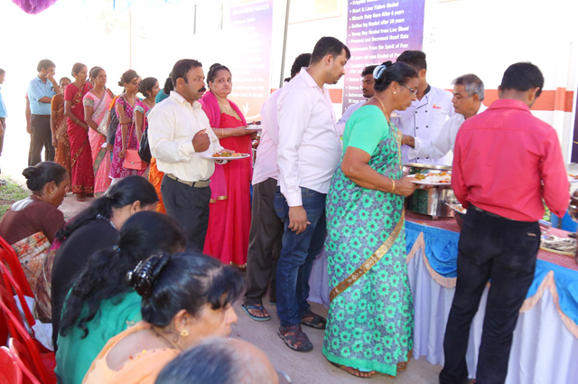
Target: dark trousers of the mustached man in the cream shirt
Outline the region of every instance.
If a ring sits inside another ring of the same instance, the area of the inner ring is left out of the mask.
[[[202,253],[209,226],[210,187],[191,187],[165,175],[161,194],[167,215],[181,224],[187,236],[187,249]]]

